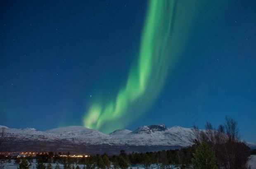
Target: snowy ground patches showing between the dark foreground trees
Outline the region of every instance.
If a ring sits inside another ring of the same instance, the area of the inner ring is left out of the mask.
[[[31,165],[31,169],[36,169],[36,161],[34,160],[32,165]],[[251,167],[251,169],[256,169],[256,155],[251,155],[250,156],[250,160],[248,162],[249,166]],[[45,164],[45,166],[47,166],[47,164]],[[56,166],[56,164],[52,164],[52,168],[54,169]],[[62,164],[59,164],[59,167],[60,168],[63,168],[63,165]],[[75,165],[76,167],[76,165]],[[82,169],[83,168],[83,165],[79,165],[79,167]],[[173,169],[175,169],[174,166],[172,166]],[[132,167],[133,169],[143,169],[144,167],[142,165],[138,165],[136,167]],[[157,169],[157,168],[160,168],[159,166],[157,166],[156,164],[152,164],[151,169]],[[12,160],[12,162],[8,163],[6,162],[5,163],[5,169],[17,169],[17,165],[14,164],[14,160]]]

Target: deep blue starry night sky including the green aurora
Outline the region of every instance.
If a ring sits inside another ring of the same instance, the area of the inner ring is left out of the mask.
[[[2,0],[0,125],[109,132],[161,123],[216,127],[230,116],[242,139],[256,142],[256,1],[192,2],[158,5],[155,26],[147,24],[146,0]],[[143,51],[147,28],[157,37]],[[140,60],[151,71],[143,90],[134,87]],[[120,93],[127,106],[119,109]]]

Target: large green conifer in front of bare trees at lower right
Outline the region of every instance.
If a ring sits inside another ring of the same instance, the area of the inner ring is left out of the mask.
[[[206,143],[201,143],[193,153],[194,169],[217,169],[216,157],[213,149]]]

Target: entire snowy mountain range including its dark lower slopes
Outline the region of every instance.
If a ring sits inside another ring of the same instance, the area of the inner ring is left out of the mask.
[[[60,127],[44,132],[34,128],[5,131],[5,151],[71,151],[73,153],[119,153],[126,151],[157,151],[180,148],[192,144],[193,128],[166,125],[138,127],[134,131],[116,130],[104,134],[81,126]],[[255,144],[249,144],[254,147]]]

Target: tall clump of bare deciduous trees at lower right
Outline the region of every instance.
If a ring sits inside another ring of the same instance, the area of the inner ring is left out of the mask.
[[[225,123],[214,129],[207,122],[205,130],[194,127],[194,143],[206,142],[211,146],[217,158],[219,167],[225,169],[246,169],[249,159],[249,148],[240,140],[237,122],[225,117]]]

